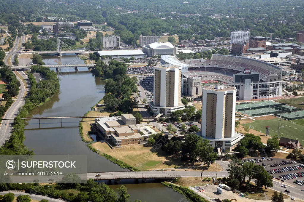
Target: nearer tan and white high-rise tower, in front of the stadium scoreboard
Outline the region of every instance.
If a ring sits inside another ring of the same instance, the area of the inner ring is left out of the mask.
[[[232,86],[202,87],[202,137],[222,151],[230,152],[241,139],[234,132],[237,90]]]

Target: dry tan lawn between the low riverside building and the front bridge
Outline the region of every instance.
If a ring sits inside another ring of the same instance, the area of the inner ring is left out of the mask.
[[[157,152],[154,152],[152,147],[145,147],[140,144],[123,146],[116,149],[111,149],[106,143],[102,142],[93,143],[91,146],[95,149],[98,149],[101,153],[106,153],[140,170],[171,170],[175,166],[181,167],[177,170],[188,170],[185,169],[185,167],[193,167],[190,168],[189,171],[205,170],[215,172],[223,169],[217,163],[213,163],[209,168],[206,165],[201,164],[193,165],[181,161],[181,156],[179,154],[172,156],[166,155],[161,149],[158,149],[156,150]]]

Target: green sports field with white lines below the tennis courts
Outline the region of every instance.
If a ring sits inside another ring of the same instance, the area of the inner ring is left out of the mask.
[[[278,135],[278,119],[272,120],[256,120],[252,123],[247,123],[245,126],[250,126],[251,129],[266,133],[266,126],[269,126],[269,134],[271,136]],[[254,128],[252,127],[254,126]],[[280,119],[279,137],[287,137],[300,140],[304,143],[304,119],[286,121]]]

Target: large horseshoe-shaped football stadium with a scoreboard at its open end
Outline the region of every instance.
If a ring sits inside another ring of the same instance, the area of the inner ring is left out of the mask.
[[[191,77],[203,81],[216,80],[237,89],[237,100],[267,99],[282,96],[282,68],[256,59],[212,55],[211,59],[178,60],[176,56],[161,56],[161,63],[182,67],[182,95],[187,94]],[[185,66],[187,65],[187,66]],[[184,86],[183,86],[184,85]],[[184,90],[183,90],[184,89]]]

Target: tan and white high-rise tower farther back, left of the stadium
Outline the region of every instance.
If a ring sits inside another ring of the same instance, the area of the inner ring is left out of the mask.
[[[181,103],[181,67],[165,64],[154,66],[154,99],[150,102],[154,114],[170,115],[184,109]]]

